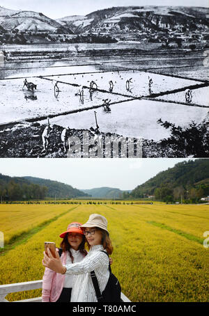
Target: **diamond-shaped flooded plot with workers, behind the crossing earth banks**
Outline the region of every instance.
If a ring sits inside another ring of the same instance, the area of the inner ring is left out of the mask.
[[[47,78],[49,79],[50,77]],[[107,90],[111,95],[118,93],[130,97],[148,97],[153,93],[173,90],[173,87],[178,89],[201,84],[200,81],[196,82],[189,79],[165,77],[161,74],[136,70],[118,70],[66,76],[61,74],[60,76],[53,76],[53,79],[56,81],[64,81],[68,84],[77,84],[79,86],[90,86],[93,80],[100,90]],[[149,86],[150,79],[152,79],[152,84]]]

